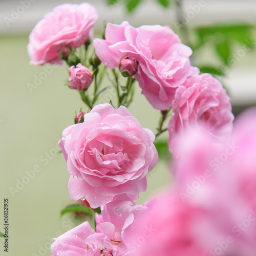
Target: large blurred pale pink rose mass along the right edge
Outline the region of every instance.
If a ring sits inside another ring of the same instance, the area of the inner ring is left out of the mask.
[[[234,121],[229,140],[218,141],[200,130],[179,140],[181,158],[174,173],[184,204],[204,208],[198,239],[212,256],[256,251],[256,108]],[[183,148],[183,150],[182,150]]]

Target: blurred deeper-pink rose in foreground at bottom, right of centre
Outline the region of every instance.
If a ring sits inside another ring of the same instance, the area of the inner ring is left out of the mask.
[[[137,242],[133,255],[209,255],[207,247],[196,237],[205,216],[204,209],[184,204],[176,195],[162,195],[146,212],[137,226],[137,232],[132,235]]]

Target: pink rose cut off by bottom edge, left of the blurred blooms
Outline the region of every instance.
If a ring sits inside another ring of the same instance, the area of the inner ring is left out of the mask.
[[[108,231],[107,233],[108,234]],[[100,256],[116,255],[116,246],[104,233],[96,233],[88,222],[53,239],[53,256]],[[102,254],[105,253],[105,254]]]

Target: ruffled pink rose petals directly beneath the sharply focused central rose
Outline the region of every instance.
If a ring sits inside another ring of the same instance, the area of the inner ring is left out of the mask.
[[[102,216],[96,214],[96,229],[100,233],[113,230],[113,236],[109,239],[118,244],[117,255],[134,255],[139,237],[143,236],[143,233],[151,235],[151,226],[145,227],[141,232],[138,232],[138,226],[150,211],[153,202],[154,200],[151,200],[143,205],[137,205],[126,195],[118,195],[111,202],[101,206]]]

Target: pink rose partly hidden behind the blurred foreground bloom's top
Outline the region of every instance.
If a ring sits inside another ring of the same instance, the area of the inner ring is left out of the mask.
[[[210,74],[189,78],[186,86],[177,89],[173,113],[168,122],[169,149],[178,157],[177,140],[184,132],[199,126],[218,138],[232,130],[233,114],[226,90]]]

